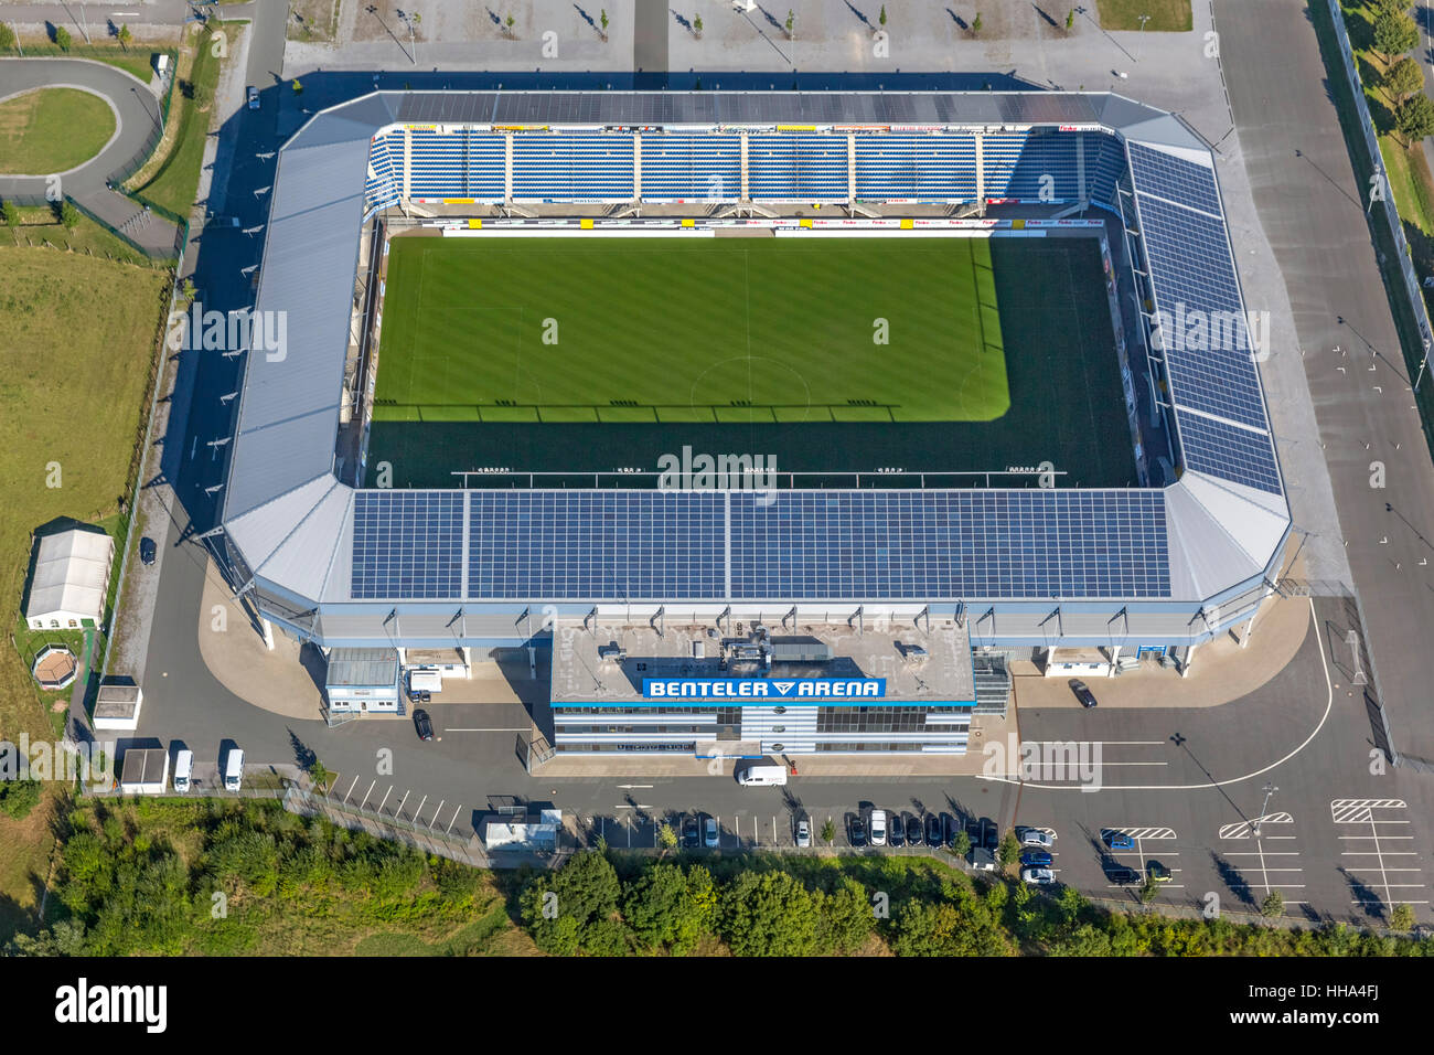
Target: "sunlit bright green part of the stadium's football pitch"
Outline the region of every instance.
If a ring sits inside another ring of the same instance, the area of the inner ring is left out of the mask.
[[[390,244],[376,421],[958,422],[1010,405],[985,238]]]

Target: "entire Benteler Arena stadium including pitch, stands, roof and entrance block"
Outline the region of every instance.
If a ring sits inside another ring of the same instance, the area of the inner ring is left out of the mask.
[[[1248,639],[1233,261],[1110,93],[376,92],[280,152],[215,550],[331,663],[551,643],[558,752],[961,754],[1012,657]]]

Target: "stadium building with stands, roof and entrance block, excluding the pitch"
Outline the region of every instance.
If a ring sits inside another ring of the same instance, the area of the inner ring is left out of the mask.
[[[374,92],[288,141],[270,201],[254,310],[285,319],[287,343],[237,350],[208,534],[268,637],[466,665],[555,634],[564,749],[961,751],[994,669],[982,656],[1101,649],[1114,665],[1154,649],[1187,670],[1202,642],[1248,637],[1276,589],[1291,520],[1258,372],[1272,349],[1252,355],[1210,151],[1163,111],[1074,92]],[[988,215],[1011,208],[1037,220]],[[855,466],[858,487],[783,485],[776,501],[597,481],[364,487],[391,215],[436,237],[754,222],[790,238],[1040,237],[1096,217],[1114,233],[1110,355],[1149,471],[1124,488],[935,488]],[[1226,340],[1186,339],[1212,329]],[[793,609],[802,629],[782,619]],[[697,629],[648,630],[675,610]],[[929,630],[847,633],[878,614]],[[815,649],[806,637],[829,657],[787,652]],[[836,692],[880,679],[876,698]],[[783,703],[779,680],[813,688]]]

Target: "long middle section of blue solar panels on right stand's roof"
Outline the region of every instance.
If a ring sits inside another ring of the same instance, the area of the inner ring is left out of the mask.
[[[1183,333],[1166,333],[1174,402],[1265,428],[1225,224],[1143,194],[1137,201],[1156,307],[1184,320]]]

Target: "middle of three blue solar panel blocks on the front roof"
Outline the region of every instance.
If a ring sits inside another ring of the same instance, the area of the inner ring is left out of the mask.
[[[473,491],[470,597],[718,599],[726,505],[697,491]]]

